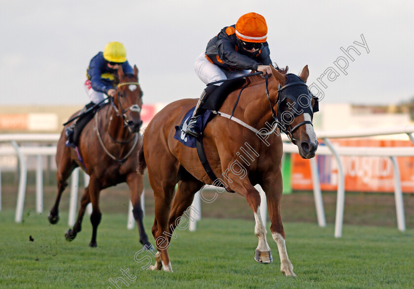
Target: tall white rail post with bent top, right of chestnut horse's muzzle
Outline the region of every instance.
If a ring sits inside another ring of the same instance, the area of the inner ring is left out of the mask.
[[[338,162],[338,193],[337,193],[337,209],[335,216],[335,238],[342,237],[342,225],[344,224],[344,206],[345,206],[345,176],[344,167],[342,166],[341,158],[335,150],[329,139],[324,138],[326,146],[331,150],[336,161]]]

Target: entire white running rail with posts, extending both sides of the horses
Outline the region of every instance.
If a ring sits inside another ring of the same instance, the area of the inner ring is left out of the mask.
[[[393,164],[394,168],[394,181],[395,181],[395,206],[397,211],[397,225],[400,231],[405,231],[405,219],[404,219],[404,203],[403,203],[403,194],[401,191],[401,179],[398,170],[397,157],[404,156],[414,156],[414,147],[392,147],[392,148],[373,148],[373,147],[339,147],[332,145],[329,139],[332,138],[349,138],[349,137],[369,137],[369,136],[378,136],[378,135],[391,135],[391,134],[407,134],[410,140],[414,143],[414,126],[403,126],[403,127],[393,127],[393,128],[370,128],[370,129],[359,129],[359,130],[345,130],[345,131],[317,131],[316,135],[318,139],[323,139],[326,146],[319,146],[317,150],[317,155],[333,155],[338,161],[338,167],[342,167],[342,162],[340,156],[369,156],[369,157],[389,157]],[[40,156],[54,156],[56,154],[56,146],[40,146],[40,147],[25,147],[17,145],[17,142],[40,142],[40,143],[57,143],[59,140],[60,134],[0,134],[0,142],[11,143],[13,147],[2,147],[0,148],[0,155],[17,155],[20,163],[20,176],[19,176],[19,189],[17,197],[17,206],[16,206],[16,218],[15,221],[20,223],[23,216],[23,207],[24,199],[26,192],[26,181],[27,181],[27,166],[25,157],[27,156],[36,156],[37,157],[37,168],[36,168],[36,210],[38,213],[41,213],[43,210],[43,192],[42,192],[42,162]],[[283,141],[288,142],[288,139],[285,135],[282,136]],[[283,144],[284,153],[298,153],[298,148],[291,143]],[[312,181],[313,181],[313,194],[315,199],[315,207],[318,224],[320,226],[325,226],[325,215],[323,210],[322,194],[320,191],[320,184],[318,178],[317,164],[315,159],[311,159],[311,172],[312,172]],[[1,171],[0,171],[0,181],[1,181]],[[335,237],[340,238],[342,236],[342,227],[343,227],[343,217],[344,217],[344,204],[345,204],[345,177],[343,170],[339,169],[339,184],[337,192],[337,209],[336,209],[336,219],[335,219]],[[74,185],[73,185],[74,186]],[[73,195],[73,200],[71,197],[71,206],[69,208],[69,225],[74,224],[73,212],[76,211],[76,201],[77,199],[77,185],[73,189],[71,195]],[[212,187],[212,186],[210,186]],[[214,188],[214,187],[212,187]],[[258,186],[256,189],[259,190],[262,196],[262,205],[261,205],[261,214],[262,220],[266,225],[265,216],[267,216],[267,205],[264,199],[264,192]],[[74,196],[76,194],[76,197]],[[141,196],[142,206],[143,206],[143,194]],[[201,199],[200,193],[197,193],[193,204],[199,212],[201,212]],[[263,207],[262,207],[263,206]],[[1,183],[0,183],[0,210],[1,210]],[[88,212],[91,213],[90,207]],[[127,227],[132,228],[134,226],[133,217],[132,217],[132,204],[130,204],[128,209],[128,223]],[[192,218],[190,220],[190,229],[195,230],[197,220],[200,220],[201,217]]]

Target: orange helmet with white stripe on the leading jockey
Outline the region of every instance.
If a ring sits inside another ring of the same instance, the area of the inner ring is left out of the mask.
[[[265,18],[254,12],[244,14],[236,23],[236,36],[246,42],[265,42],[267,39]]]

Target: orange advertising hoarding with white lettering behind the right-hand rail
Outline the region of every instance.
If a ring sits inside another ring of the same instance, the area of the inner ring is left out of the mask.
[[[413,146],[404,140],[335,139],[338,146],[351,147],[405,147]],[[323,144],[320,144],[323,145]],[[322,191],[338,188],[338,165],[333,156],[316,156]],[[345,191],[394,192],[394,172],[388,157],[341,157],[345,173]],[[397,158],[404,193],[414,193],[414,157]],[[312,190],[309,160],[292,154],[292,189]]]

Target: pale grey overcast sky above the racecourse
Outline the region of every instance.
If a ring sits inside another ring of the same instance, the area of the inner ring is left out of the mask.
[[[386,104],[414,96],[413,1],[1,0],[0,104],[84,104],[90,59],[119,41],[137,64],[144,103],[200,96],[194,61],[208,40],[248,12],[268,23],[271,58],[316,82],[349,45],[361,53],[326,103]],[[363,33],[370,53],[354,41]],[[339,71],[339,69],[337,69]]]

